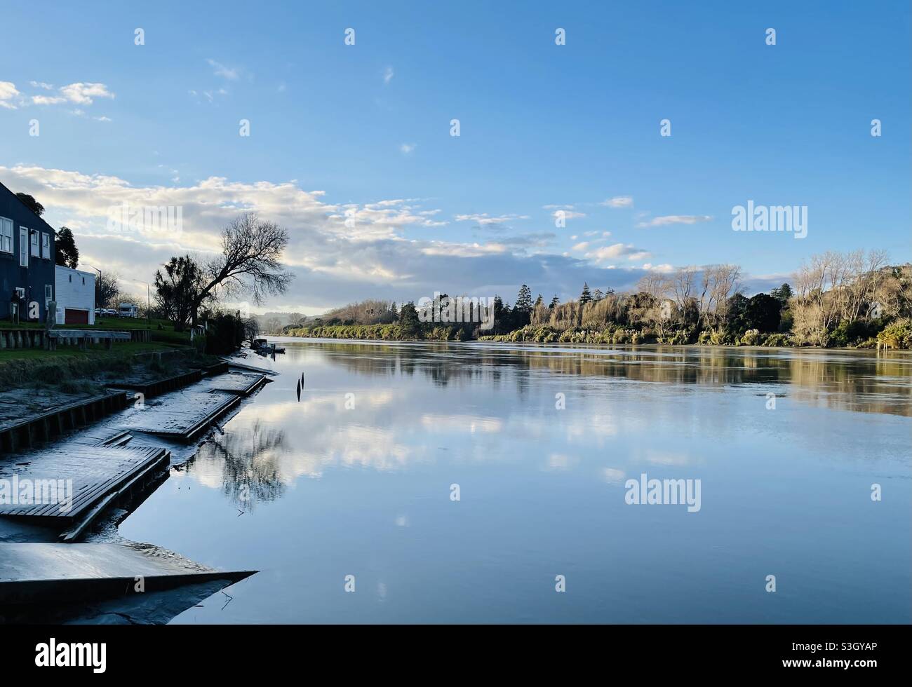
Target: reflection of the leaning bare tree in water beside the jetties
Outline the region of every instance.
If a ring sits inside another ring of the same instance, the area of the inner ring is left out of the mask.
[[[198,473],[204,483],[206,473],[220,472],[224,495],[238,508],[252,510],[258,501],[284,493],[279,462],[285,450],[285,432],[257,420],[201,446],[187,472]]]

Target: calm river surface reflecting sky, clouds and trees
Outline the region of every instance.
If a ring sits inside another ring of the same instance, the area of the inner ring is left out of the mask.
[[[908,355],[280,341],[120,526],[262,570],[174,622],[912,619]]]

